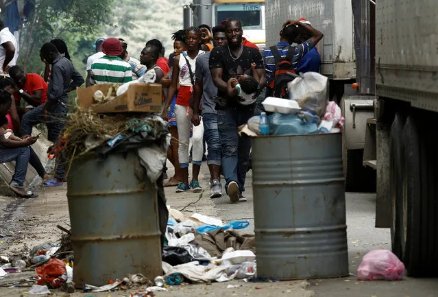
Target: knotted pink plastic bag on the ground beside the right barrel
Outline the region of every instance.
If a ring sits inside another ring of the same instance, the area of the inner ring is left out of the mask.
[[[358,281],[400,281],[404,264],[389,250],[372,250],[365,254],[357,269]]]

